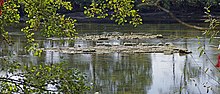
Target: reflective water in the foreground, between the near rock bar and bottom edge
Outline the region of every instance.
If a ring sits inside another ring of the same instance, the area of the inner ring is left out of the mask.
[[[172,41],[172,40],[170,40]],[[100,93],[167,94],[219,92],[219,72],[207,58],[216,62],[218,53],[206,45],[206,54],[198,57],[197,39],[172,41],[179,47],[193,51],[190,55],[179,54],[74,54],[67,55],[71,66],[87,73]],[[204,40],[207,44],[207,39]],[[206,73],[204,71],[209,69]],[[214,78],[214,79],[213,79]]]

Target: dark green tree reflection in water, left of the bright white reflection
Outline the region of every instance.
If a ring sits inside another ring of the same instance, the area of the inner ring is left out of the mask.
[[[101,93],[146,93],[151,84],[150,55],[102,54],[94,58],[95,91]],[[146,59],[143,59],[146,58]],[[149,58],[150,59],[150,58]],[[108,92],[107,92],[108,91]]]

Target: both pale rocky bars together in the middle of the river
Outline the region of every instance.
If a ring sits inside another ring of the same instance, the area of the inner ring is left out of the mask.
[[[190,54],[191,51],[187,49],[177,48],[173,43],[139,43],[139,40],[145,40],[149,38],[162,38],[162,35],[152,35],[145,33],[105,33],[101,35],[83,35],[79,36],[77,40],[87,41],[90,40],[92,45],[75,47],[63,47],[63,48],[43,48],[44,51],[56,51],[61,53],[71,54],[84,54],[84,53],[164,53],[170,55],[173,53],[180,53],[180,55]],[[55,40],[58,40],[55,38]],[[129,41],[125,42],[124,41]],[[135,40],[132,41],[132,40]]]

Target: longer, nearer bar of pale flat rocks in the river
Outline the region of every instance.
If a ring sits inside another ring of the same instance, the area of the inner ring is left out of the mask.
[[[47,48],[44,51],[59,51],[61,53],[164,53],[170,55],[173,53],[190,54],[191,51],[186,49],[176,48],[175,46],[141,46],[135,43],[126,43],[120,46],[94,46],[88,48]]]

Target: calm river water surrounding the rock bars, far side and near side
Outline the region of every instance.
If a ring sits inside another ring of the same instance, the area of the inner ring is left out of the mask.
[[[23,56],[14,57],[22,62],[70,62],[70,67],[78,68],[88,76],[94,86],[90,93],[101,94],[219,94],[220,72],[213,67],[219,51],[219,39],[209,44],[209,39],[200,31],[190,30],[179,24],[145,24],[137,28],[113,24],[79,24],[79,35],[103,32],[142,32],[162,34],[165,39],[152,39],[146,42],[172,42],[174,45],[192,51],[189,55],[151,54],[62,54],[45,52],[42,58],[24,55],[24,38],[18,32],[11,33],[15,38],[13,47],[1,45],[1,56],[8,51]],[[200,40],[195,36],[202,37]],[[206,54],[199,57],[198,42],[205,44]],[[43,47],[92,45],[91,41],[76,40],[74,43],[53,40],[39,40]],[[9,50],[7,50],[9,49]],[[211,63],[212,62],[212,63]],[[205,72],[207,70],[207,72]]]

